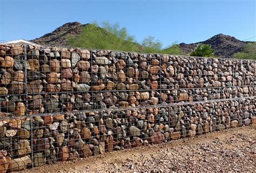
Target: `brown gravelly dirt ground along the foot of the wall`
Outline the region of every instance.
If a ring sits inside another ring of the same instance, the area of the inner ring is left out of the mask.
[[[256,125],[83,158],[27,171],[255,171],[256,158],[248,147]]]

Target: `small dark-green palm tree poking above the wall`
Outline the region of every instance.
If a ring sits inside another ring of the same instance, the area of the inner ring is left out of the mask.
[[[210,57],[213,56],[213,53],[211,45],[198,44],[194,51],[190,53],[190,56]]]

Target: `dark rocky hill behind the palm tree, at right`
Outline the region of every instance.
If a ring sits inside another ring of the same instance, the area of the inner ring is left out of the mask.
[[[197,44],[209,44],[214,49],[214,55],[218,57],[232,57],[234,53],[241,52],[242,48],[250,41],[240,41],[230,35],[218,34],[212,38],[193,44],[179,44],[180,49],[189,53]]]

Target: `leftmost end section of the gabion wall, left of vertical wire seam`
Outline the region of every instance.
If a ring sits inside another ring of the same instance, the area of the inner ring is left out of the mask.
[[[0,171],[31,166],[23,45],[0,45]]]

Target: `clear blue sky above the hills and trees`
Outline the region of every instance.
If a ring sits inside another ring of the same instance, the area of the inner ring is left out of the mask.
[[[164,46],[219,33],[244,40],[256,36],[256,0],[0,0],[0,42],[38,38],[71,21],[119,23],[138,42],[151,35]]]

